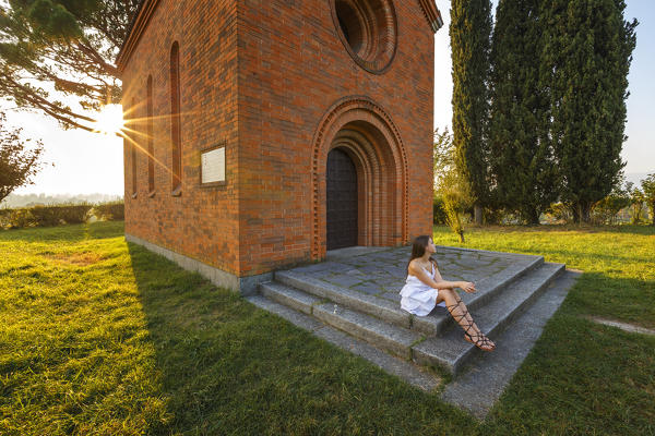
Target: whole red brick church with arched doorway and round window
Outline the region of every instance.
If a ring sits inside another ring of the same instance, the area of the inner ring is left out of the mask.
[[[117,60],[126,238],[250,292],[430,233],[441,25],[433,0],[144,0]]]

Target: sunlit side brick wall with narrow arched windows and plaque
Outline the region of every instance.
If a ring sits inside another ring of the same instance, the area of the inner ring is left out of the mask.
[[[193,8],[191,8],[193,3]],[[126,232],[238,275],[237,38],[234,1],[160,1],[123,72],[127,118],[146,116],[153,76],[155,194],[148,196],[147,157],[138,153],[132,198],[126,146]],[[182,189],[171,195],[170,48],[179,43]],[[146,123],[131,126],[147,149]],[[200,152],[226,141],[224,186],[200,186]]]

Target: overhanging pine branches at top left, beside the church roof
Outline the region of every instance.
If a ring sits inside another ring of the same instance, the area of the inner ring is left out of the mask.
[[[120,102],[114,64],[139,0],[0,0],[0,97],[63,128]]]

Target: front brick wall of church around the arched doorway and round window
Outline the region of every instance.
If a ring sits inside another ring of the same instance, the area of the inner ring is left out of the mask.
[[[329,1],[239,1],[239,246],[246,274],[312,257],[312,141],[346,96],[370,98],[397,126],[408,160],[408,238],[431,231],[433,33],[418,2],[394,1],[394,8],[395,58],[383,74],[372,74],[345,50]],[[318,257],[324,251],[321,241]]]

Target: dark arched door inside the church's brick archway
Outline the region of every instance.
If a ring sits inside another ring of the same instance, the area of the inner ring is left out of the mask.
[[[357,170],[350,157],[327,154],[327,250],[357,245]]]

